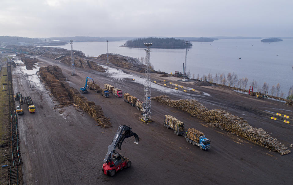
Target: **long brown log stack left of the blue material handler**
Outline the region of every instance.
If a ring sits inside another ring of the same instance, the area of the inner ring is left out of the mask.
[[[89,115],[97,121],[97,126],[103,128],[112,127],[110,120],[104,116],[101,106],[95,105],[94,102],[89,101],[85,96],[81,96],[77,89],[69,86],[64,80],[60,81],[57,79],[57,77],[63,77],[62,71],[58,66],[40,68],[39,71],[42,79],[44,79],[46,84],[50,87],[52,94],[57,97],[60,105],[71,105],[72,102],[69,100],[70,97],[73,100],[73,103],[89,113]]]

